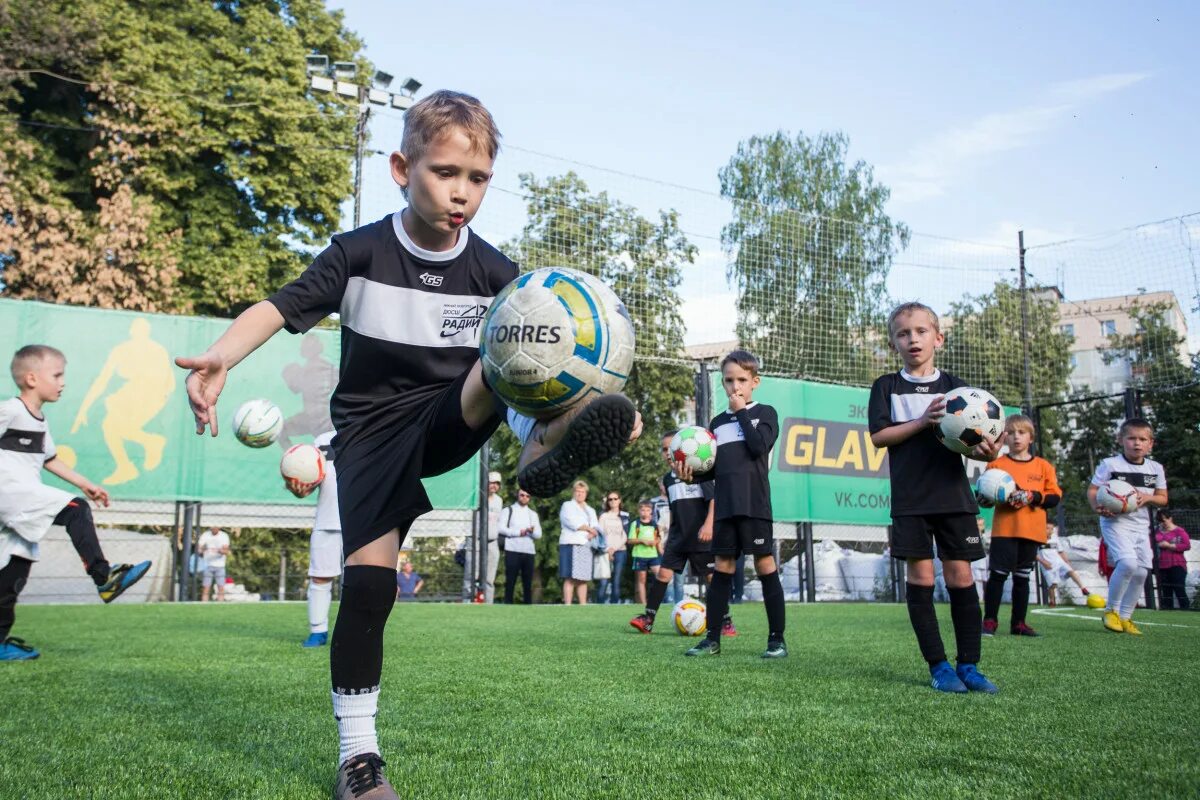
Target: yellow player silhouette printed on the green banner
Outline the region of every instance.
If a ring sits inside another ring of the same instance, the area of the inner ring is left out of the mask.
[[[104,444],[116,462],[113,474],[102,481],[108,486],[132,481],[140,474],[125,452],[125,443],[142,446],[142,469],[148,473],[162,462],[162,450],[167,445],[166,437],[143,429],[175,390],[170,356],[164,347],[150,338],[150,323],[145,319],[134,319],[130,325],[130,339],[108,354],[104,367],[83,398],[71,433],[88,425],[88,409],[104,393],[114,373],[125,383],[104,398],[104,420],[100,425]]]

